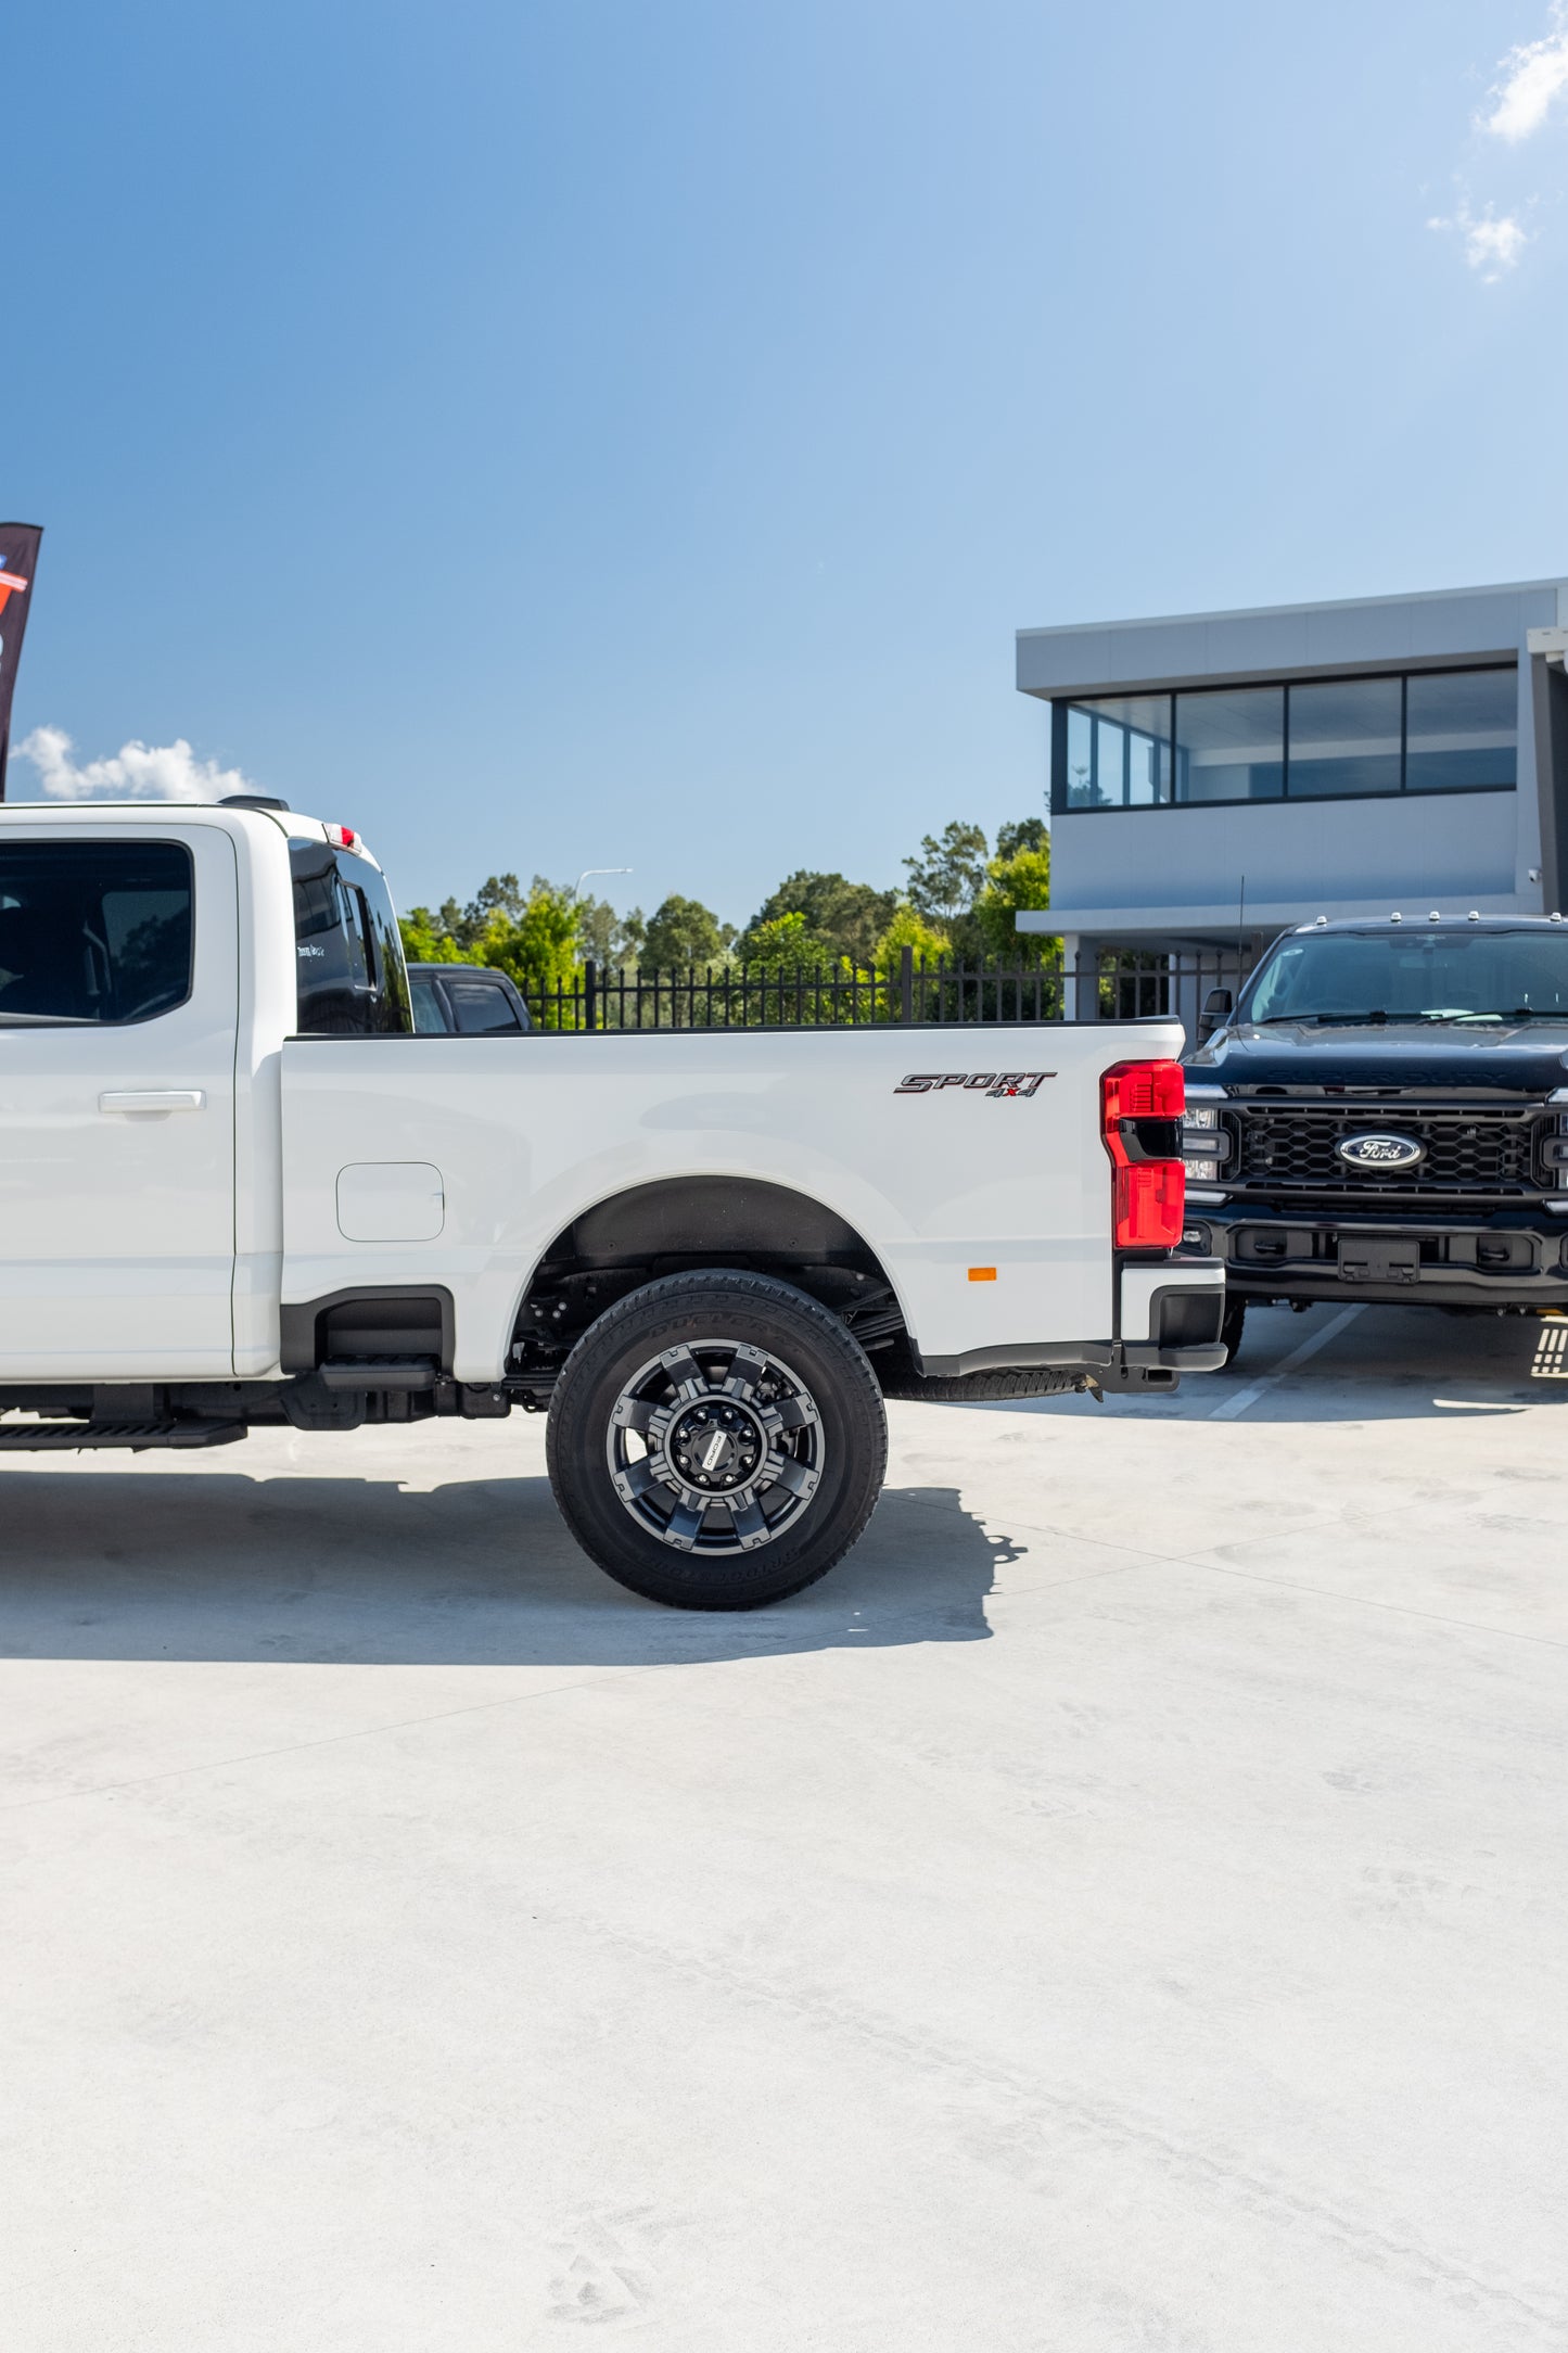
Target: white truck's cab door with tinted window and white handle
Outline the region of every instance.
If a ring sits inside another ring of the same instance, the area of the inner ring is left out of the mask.
[[[0,828],[5,1379],[233,1374],[237,951],[219,826]]]

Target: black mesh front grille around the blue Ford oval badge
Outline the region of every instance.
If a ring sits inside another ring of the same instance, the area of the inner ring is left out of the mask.
[[[1403,1104],[1227,1104],[1227,1188],[1324,1193],[1333,1200],[1519,1198],[1549,1191],[1537,1172],[1537,1111],[1415,1111]],[[1354,1169],[1342,1136],[1394,1134],[1425,1146],[1410,1169]]]

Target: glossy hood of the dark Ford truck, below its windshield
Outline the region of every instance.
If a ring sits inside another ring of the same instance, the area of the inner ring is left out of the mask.
[[[1467,1094],[1552,1094],[1568,1087],[1568,1021],[1237,1021],[1187,1054],[1197,1085],[1458,1087]]]

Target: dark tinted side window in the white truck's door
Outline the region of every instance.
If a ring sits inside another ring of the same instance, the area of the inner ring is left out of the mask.
[[[0,845],[0,1024],[150,1021],[190,995],[179,842]]]

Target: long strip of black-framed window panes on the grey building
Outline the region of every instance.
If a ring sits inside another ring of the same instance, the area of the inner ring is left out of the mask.
[[[1516,784],[1519,673],[1408,671],[1053,704],[1051,805],[1345,800]]]

